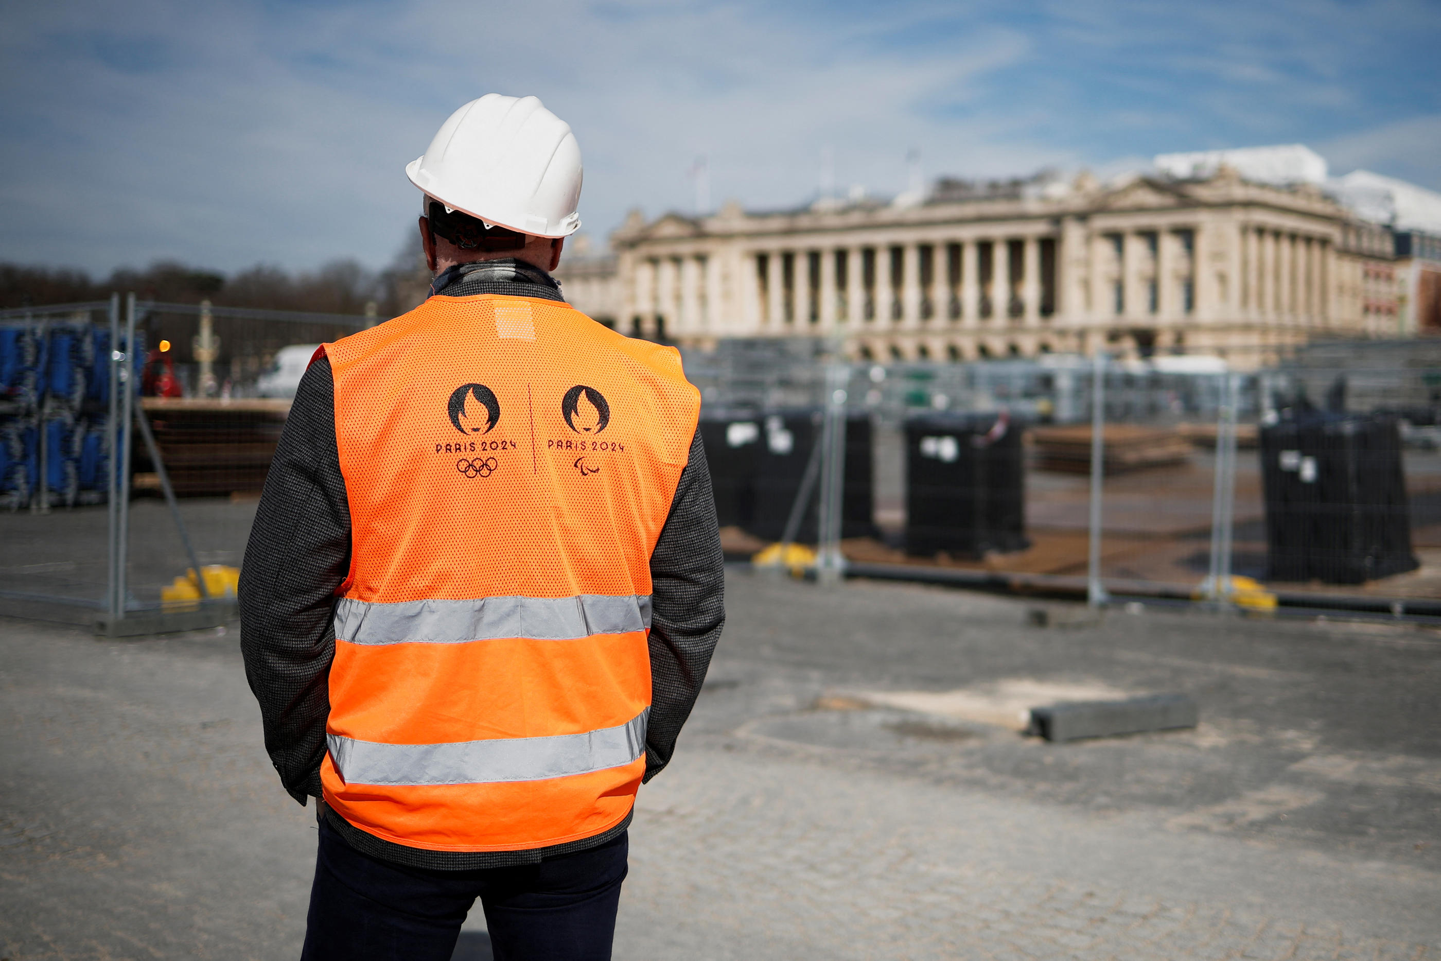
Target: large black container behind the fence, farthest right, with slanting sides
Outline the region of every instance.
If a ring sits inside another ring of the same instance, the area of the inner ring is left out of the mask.
[[[1415,571],[1389,418],[1307,412],[1261,429],[1270,576],[1362,584]]]

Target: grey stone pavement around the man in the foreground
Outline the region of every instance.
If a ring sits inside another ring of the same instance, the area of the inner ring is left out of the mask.
[[[617,958],[1441,957],[1441,634],[728,589]],[[314,821],[236,640],[0,618],[0,958],[298,955]],[[1049,745],[865,700],[1017,680],[1186,692],[1202,725]]]

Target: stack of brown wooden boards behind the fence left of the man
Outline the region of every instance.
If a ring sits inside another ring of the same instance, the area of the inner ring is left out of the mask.
[[[265,486],[290,401],[144,398],[176,494],[245,494]],[[134,448],[135,487],[159,487],[144,444]]]

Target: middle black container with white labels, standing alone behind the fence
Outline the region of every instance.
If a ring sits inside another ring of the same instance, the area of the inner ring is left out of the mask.
[[[980,558],[1030,546],[1019,424],[1006,414],[924,415],[905,434],[908,553]]]

